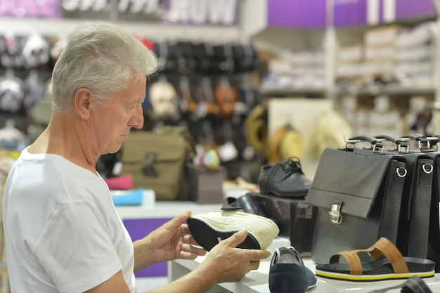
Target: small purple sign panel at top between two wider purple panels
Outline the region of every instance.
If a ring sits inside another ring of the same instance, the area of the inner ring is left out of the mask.
[[[367,23],[367,0],[335,0],[333,25],[365,25]]]

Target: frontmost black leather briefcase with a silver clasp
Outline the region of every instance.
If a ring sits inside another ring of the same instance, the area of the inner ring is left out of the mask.
[[[365,142],[367,148],[358,147]],[[305,199],[318,207],[313,261],[328,263],[332,254],[373,245],[380,237],[395,244],[407,173],[406,158],[385,154],[372,138],[351,138],[345,148],[325,149]]]

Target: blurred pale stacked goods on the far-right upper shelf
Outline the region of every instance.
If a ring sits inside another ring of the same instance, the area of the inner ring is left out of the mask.
[[[363,44],[337,52],[336,83],[341,90],[386,86],[434,86],[436,23],[389,25],[366,30]]]

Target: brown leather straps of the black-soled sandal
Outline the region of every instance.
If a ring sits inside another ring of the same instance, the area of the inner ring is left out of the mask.
[[[339,263],[340,256],[347,260],[350,268],[350,275],[362,275],[362,262],[358,256],[359,252],[368,252],[373,260],[384,255],[392,264],[394,273],[409,273],[408,266],[399,249],[386,237],[380,240],[368,249],[354,249],[344,252],[338,252],[330,257],[330,263]]]

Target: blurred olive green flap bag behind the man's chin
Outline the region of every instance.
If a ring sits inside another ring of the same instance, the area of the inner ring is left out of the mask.
[[[154,190],[156,200],[189,200],[186,163],[194,156],[195,141],[183,127],[132,131],[122,145],[121,175],[133,176],[133,188]]]

